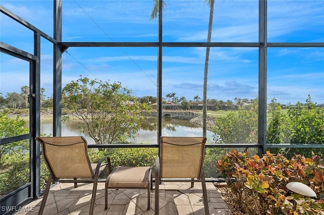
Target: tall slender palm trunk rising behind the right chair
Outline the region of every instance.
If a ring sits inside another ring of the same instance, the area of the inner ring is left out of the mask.
[[[206,0],[206,2],[210,7],[207,42],[211,42],[215,0]],[[209,52],[210,52],[210,47],[206,47],[206,58],[205,58],[205,68],[204,68],[204,90],[203,90],[203,136],[204,137],[207,136],[206,118],[207,118],[207,76],[208,76]]]

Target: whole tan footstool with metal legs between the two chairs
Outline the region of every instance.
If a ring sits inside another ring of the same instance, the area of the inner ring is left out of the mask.
[[[108,208],[108,189],[147,189],[147,210],[150,209],[152,189],[151,166],[118,166],[108,175],[105,185],[105,210]]]

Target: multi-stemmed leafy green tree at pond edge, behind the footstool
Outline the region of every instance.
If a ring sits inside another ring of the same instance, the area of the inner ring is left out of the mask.
[[[80,124],[96,144],[123,143],[133,137],[144,120],[146,104],[140,104],[120,82],[71,81],[63,88],[63,106],[80,119]]]

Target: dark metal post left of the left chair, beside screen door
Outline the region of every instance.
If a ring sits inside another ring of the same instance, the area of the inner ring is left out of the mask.
[[[30,196],[38,198],[41,194],[41,147],[35,137],[41,131],[41,34],[34,32],[34,55],[36,60],[29,66],[29,131],[30,131]]]

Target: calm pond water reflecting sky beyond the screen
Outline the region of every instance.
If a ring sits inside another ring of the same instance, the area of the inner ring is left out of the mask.
[[[41,122],[41,133],[53,134],[53,125],[51,120]],[[207,131],[208,142],[213,140],[213,132]],[[94,140],[87,134],[82,133],[81,128],[75,121],[62,121],[62,136],[84,136],[89,144],[94,144]],[[187,120],[181,119],[162,119],[162,136],[178,136],[178,137],[197,137],[203,136],[203,128],[199,127]],[[147,121],[142,123],[141,129],[136,137],[129,138],[127,141],[132,143],[156,144],[157,123],[155,121]]]

